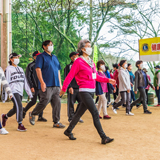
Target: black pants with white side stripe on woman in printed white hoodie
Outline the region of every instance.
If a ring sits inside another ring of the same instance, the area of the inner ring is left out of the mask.
[[[18,93],[13,94],[13,108],[7,113],[7,117],[11,117],[16,113],[16,119],[18,123],[22,123],[23,120],[23,106],[22,96]]]

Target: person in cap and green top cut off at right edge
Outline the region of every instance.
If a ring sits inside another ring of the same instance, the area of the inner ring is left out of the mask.
[[[155,75],[154,75],[154,86],[156,91],[156,96],[158,98],[158,104],[157,107],[160,106],[160,66],[157,65],[155,68]]]

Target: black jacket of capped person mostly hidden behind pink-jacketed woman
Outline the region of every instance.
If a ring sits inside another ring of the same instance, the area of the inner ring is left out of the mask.
[[[70,64],[68,64],[68,65],[65,67],[65,69],[64,69],[64,78],[67,77],[68,73],[69,73],[70,70],[71,70],[72,65],[73,65],[73,62],[71,62]],[[71,88],[71,87],[72,87],[73,89],[79,89],[79,86],[78,86],[75,78],[73,78],[72,82],[69,84],[68,89]]]

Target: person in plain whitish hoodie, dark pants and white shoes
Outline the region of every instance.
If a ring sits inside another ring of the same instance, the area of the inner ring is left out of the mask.
[[[122,104],[126,104],[126,115],[133,116],[134,114],[130,112],[130,90],[131,90],[131,82],[130,75],[127,68],[127,61],[121,60],[119,63],[119,92],[121,94],[121,101],[113,105],[113,111],[116,112],[116,108],[121,106]]]

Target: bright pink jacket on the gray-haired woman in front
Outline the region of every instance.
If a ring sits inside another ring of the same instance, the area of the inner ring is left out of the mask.
[[[96,73],[96,79],[92,79],[92,73]],[[96,71],[96,66],[93,63],[91,68],[87,62],[82,58],[78,58],[72,65],[72,68],[63,82],[62,91],[66,91],[68,85],[75,77],[79,88],[95,89],[96,81],[98,82],[109,82],[109,78],[101,77]]]

